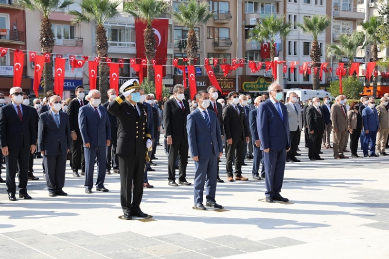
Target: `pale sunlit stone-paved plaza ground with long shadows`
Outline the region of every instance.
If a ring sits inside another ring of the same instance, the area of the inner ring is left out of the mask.
[[[303,142],[302,142],[303,143]],[[300,145],[303,147],[303,145]],[[167,155],[157,149],[156,172],[148,178],[141,209],[153,216],[124,221],[120,178],[106,175],[109,192],[86,194],[84,178],[67,167],[68,196],[49,197],[42,159],[29,181],[32,200],[8,201],[0,184],[0,258],[12,259],[206,259],[206,258],[389,258],[389,159],[366,157],[287,163],[282,195],[287,203],[266,203],[264,180],[218,183],[222,210],[194,210],[193,185],[170,187]],[[346,154],[347,155],[347,154]],[[225,157],[221,178],[227,180]],[[187,180],[193,183],[194,163]],[[5,176],[3,170],[2,176]],[[95,176],[96,177],[96,176]],[[4,178],[4,177],[3,177]]]

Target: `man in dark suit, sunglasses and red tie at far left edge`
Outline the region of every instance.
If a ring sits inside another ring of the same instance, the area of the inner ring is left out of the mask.
[[[36,149],[36,122],[32,110],[22,105],[23,92],[20,87],[9,91],[12,102],[0,109],[0,144],[5,155],[6,184],[8,199],[16,201],[15,174],[19,164],[19,198],[31,199],[27,194],[27,171],[30,153]]]

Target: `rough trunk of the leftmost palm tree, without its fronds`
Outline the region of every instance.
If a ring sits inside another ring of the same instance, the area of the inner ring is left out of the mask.
[[[42,53],[52,53],[54,48],[54,34],[52,23],[48,17],[44,17],[40,23],[39,42]],[[50,63],[45,63],[43,66],[43,92],[47,93],[54,88],[53,79],[53,59],[50,58]],[[61,96],[62,98],[62,96]]]

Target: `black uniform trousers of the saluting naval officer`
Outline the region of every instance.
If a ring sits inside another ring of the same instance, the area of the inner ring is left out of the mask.
[[[141,210],[143,195],[144,155],[118,155],[120,172],[120,204],[123,212]],[[132,185],[134,189],[131,190]],[[131,202],[132,201],[132,202]]]

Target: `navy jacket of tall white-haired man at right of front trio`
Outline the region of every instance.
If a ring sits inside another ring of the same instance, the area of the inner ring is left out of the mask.
[[[257,128],[259,139],[261,139],[261,150],[289,149],[290,147],[288,112],[285,104],[280,105],[283,119],[270,99],[259,105]]]

